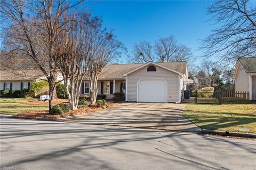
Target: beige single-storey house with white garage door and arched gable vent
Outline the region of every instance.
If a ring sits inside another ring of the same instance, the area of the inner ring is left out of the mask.
[[[98,94],[112,98],[113,93],[125,93],[126,101],[180,102],[188,79],[187,62],[148,62],[110,64],[98,79]],[[81,96],[90,96],[90,83],[85,78]]]

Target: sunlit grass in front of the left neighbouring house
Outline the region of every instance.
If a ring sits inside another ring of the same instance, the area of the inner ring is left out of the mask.
[[[0,98],[0,114],[3,115],[18,115],[28,111],[45,111],[48,109],[47,105],[37,104],[29,105],[21,102],[37,101],[37,99],[24,98]]]

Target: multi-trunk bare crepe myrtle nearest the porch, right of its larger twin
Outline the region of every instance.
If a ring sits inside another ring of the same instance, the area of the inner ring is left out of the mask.
[[[88,77],[90,81],[91,103],[97,100],[97,82],[102,69],[114,59],[117,59],[126,48],[118,41],[113,31],[107,29],[95,33],[92,41],[92,59],[89,62]]]

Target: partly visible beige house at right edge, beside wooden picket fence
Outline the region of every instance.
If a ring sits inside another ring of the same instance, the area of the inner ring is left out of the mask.
[[[249,92],[250,100],[256,100],[256,57],[239,58],[233,79],[235,91]]]

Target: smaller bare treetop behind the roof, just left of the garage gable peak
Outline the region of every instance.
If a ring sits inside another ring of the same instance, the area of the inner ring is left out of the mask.
[[[153,46],[150,42],[143,41],[139,44],[133,45],[133,52],[132,55],[128,57],[130,62],[133,63],[143,63],[143,62],[149,62],[154,61],[155,56],[153,54]]]

